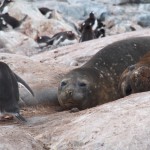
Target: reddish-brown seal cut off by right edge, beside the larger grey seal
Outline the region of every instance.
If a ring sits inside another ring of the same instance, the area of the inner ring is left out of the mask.
[[[119,81],[121,97],[132,93],[150,90],[150,53],[144,55],[138,63],[129,66],[122,73]]]

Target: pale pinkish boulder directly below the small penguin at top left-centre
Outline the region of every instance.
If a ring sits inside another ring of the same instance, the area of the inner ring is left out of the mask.
[[[24,0],[15,1],[9,9],[9,13],[18,20],[24,15],[28,15],[28,18],[21,26],[21,32],[29,37],[32,37],[31,35],[34,34],[35,31],[38,31],[40,35],[46,34],[50,36],[66,30],[72,30],[76,33],[74,27],[67,23],[60,13],[54,11],[53,18],[47,19],[40,13],[34,2]],[[33,33],[31,33],[31,31]]]

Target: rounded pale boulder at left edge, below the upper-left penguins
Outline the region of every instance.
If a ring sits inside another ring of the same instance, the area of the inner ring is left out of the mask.
[[[21,55],[31,56],[38,53],[38,44],[30,37],[17,32],[1,31],[0,40],[5,43],[5,47],[11,52]],[[30,45],[30,46],[29,46]],[[6,51],[5,51],[6,52]]]

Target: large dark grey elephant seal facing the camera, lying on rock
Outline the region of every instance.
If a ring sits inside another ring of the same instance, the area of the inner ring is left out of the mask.
[[[120,75],[149,51],[149,36],[128,38],[104,47],[61,80],[58,86],[61,107],[82,110],[120,98]]]

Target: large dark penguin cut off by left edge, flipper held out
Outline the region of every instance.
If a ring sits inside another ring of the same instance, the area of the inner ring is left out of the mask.
[[[18,82],[24,85],[27,90],[34,96],[31,88],[15,74],[10,67],[0,62],[0,112],[3,115],[11,114],[21,122],[26,122],[26,119],[19,111],[19,87]]]

